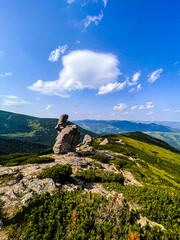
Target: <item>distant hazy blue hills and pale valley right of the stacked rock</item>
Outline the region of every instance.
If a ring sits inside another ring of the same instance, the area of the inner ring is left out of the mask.
[[[125,132],[141,131],[151,136],[166,141],[173,147],[180,150],[180,129],[178,123],[169,123],[169,126],[151,122],[130,122],[130,121],[98,121],[98,120],[82,120],[75,121],[79,126],[99,134],[119,134]],[[160,122],[158,122],[160,123]],[[171,126],[170,126],[171,125]],[[172,128],[174,126],[175,128]]]

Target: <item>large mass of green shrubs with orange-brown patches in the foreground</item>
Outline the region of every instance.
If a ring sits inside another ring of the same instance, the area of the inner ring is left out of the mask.
[[[138,217],[138,212],[130,211],[125,202],[121,206],[100,194],[61,190],[52,196],[46,193],[31,200],[16,215],[9,239],[124,240],[133,233],[141,240],[172,239],[164,236],[160,229],[141,228]]]

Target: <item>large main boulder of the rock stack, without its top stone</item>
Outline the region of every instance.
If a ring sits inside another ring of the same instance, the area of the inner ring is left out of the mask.
[[[74,152],[79,140],[80,132],[77,125],[67,125],[58,134],[53,151],[55,154]]]

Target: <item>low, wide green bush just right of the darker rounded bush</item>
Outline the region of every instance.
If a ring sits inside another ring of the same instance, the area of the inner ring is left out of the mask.
[[[77,175],[86,182],[119,182],[121,184],[124,183],[124,177],[121,173],[88,169],[78,172]]]

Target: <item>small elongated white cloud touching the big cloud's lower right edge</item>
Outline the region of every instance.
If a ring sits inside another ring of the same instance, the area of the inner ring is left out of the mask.
[[[126,86],[126,84],[127,84],[126,81],[124,81],[122,83],[118,83],[118,82],[108,83],[108,84],[103,85],[99,88],[98,94],[103,95],[103,94],[107,94],[107,93],[110,93],[110,92],[113,92],[113,91],[123,90],[124,87]]]

